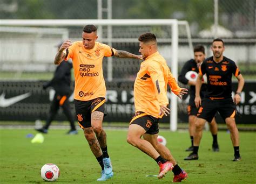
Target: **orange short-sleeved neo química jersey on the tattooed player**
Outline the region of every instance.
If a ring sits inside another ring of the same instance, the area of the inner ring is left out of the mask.
[[[63,52],[66,54],[65,60],[71,58],[73,61],[74,98],[80,101],[89,101],[97,97],[105,97],[106,86],[102,61],[104,56],[113,56],[116,50],[98,42],[95,43],[94,48],[86,49],[82,41],[76,41]]]

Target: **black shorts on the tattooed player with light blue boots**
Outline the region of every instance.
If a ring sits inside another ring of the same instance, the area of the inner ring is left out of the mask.
[[[98,97],[89,101],[75,100],[75,109],[80,128],[91,127],[91,114],[94,111],[105,111],[105,98]],[[106,116],[106,114],[104,114]]]

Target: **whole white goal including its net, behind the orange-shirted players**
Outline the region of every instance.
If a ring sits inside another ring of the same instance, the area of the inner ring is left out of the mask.
[[[82,40],[84,25],[98,27],[98,41],[113,48],[139,54],[138,37],[145,32],[156,34],[158,50],[167,61],[174,77],[178,62],[192,56],[192,43],[187,22],[176,19],[96,19],[96,20],[0,20],[0,77],[2,80],[50,80],[55,69],[56,45],[65,39]],[[140,67],[134,59],[104,58],[103,71],[107,86],[106,110],[110,118],[133,114],[132,85]],[[185,106],[169,93],[170,129],[177,130],[182,121],[179,111]],[[120,102],[119,102],[120,101]],[[120,103],[130,103],[120,105]],[[110,105],[109,105],[110,104]],[[111,119],[110,119],[111,120]],[[119,121],[122,119],[119,118]],[[125,121],[127,121],[125,119]]]

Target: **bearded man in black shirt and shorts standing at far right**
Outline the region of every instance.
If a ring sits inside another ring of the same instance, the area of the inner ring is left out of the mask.
[[[239,132],[235,124],[235,105],[241,101],[241,91],[244,87],[244,78],[235,62],[223,55],[225,51],[224,41],[214,39],[212,42],[213,56],[207,58],[199,67],[199,75],[196,81],[196,107],[199,108],[196,122],[196,133],[194,135],[193,152],[185,160],[197,160],[203,127],[206,121],[211,122],[218,111],[226,122],[230,137],[234,146],[233,161],[241,160],[239,153]],[[207,93],[203,101],[200,97],[201,79],[207,75]],[[237,77],[238,88],[232,100],[232,74]]]

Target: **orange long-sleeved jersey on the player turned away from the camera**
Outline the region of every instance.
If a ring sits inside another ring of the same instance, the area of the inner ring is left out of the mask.
[[[157,118],[163,117],[159,115],[159,111],[160,105],[169,104],[167,84],[174,94],[180,93],[181,89],[163,56],[158,52],[151,54],[141,63],[134,83],[135,111],[142,111]]]

